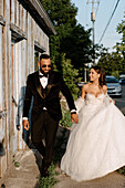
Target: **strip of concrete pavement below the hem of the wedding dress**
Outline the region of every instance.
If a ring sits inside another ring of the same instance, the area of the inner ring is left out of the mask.
[[[65,175],[56,177],[59,182],[54,188],[125,188],[125,176],[112,173],[103,178],[76,182]]]

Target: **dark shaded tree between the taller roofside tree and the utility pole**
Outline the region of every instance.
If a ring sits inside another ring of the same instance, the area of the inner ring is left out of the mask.
[[[62,40],[61,49],[72,61],[80,76],[84,77],[84,64],[92,62],[91,30],[85,31],[81,24],[75,25],[70,35]]]

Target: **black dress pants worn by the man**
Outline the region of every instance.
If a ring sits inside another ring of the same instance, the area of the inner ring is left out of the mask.
[[[31,139],[43,156],[44,166],[50,166],[55,140],[59,121],[53,119],[48,111],[43,111],[37,121],[31,125]],[[45,146],[42,143],[45,139]]]

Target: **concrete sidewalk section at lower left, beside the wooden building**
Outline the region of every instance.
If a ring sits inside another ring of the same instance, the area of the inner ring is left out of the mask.
[[[19,165],[19,167],[17,167]],[[1,188],[37,188],[39,168],[32,150],[18,152],[14,163],[0,180]]]

